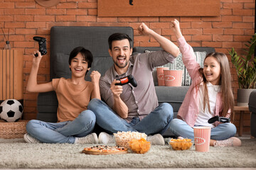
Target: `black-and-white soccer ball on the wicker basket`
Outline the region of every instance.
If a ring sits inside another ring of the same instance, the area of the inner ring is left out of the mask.
[[[23,113],[23,107],[15,99],[8,99],[3,101],[0,105],[0,117],[6,122],[18,121]]]

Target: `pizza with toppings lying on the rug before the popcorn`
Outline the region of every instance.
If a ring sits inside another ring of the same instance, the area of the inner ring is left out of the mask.
[[[116,147],[107,145],[96,145],[93,147],[85,147],[82,150],[85,154],[126,154],[126,147]]]

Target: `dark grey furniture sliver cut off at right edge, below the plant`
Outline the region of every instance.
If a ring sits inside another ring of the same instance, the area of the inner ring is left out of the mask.
[[[250,118],[250,132],[252,137],[256,137],[256,90],[251,92],[248,105],[250,112],[252,112]]]

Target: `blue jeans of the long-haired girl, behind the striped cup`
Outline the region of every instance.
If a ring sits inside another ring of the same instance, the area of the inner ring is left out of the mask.
[[[177,137],[188,137],[194,139],[193,128],[191,128],[185,121],[181,119],[173,119],[170,123],[170,130]],[[236,128],[232,123],[220,123],[215,128],[210,130],[210,139],[212,140],[226,140],[235,136]]]

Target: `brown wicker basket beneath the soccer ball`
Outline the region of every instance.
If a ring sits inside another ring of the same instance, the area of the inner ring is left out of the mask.
[[[14,123],[7,123],[0,120],[0,138],[23,138],[23,135],[26,133],[27,123],[28,120],[18,120],[18,122]]]

